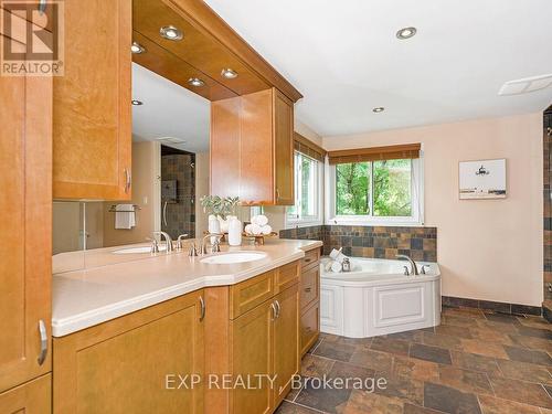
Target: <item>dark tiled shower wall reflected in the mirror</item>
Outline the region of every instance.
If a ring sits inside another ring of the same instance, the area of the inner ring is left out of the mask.
[[[173,153],[161,157],[162,180],[177,180],[177,203],[167,204],[167,225],[161,230],[176,238],[180,234],[195,236],[195,156]],[[161,208],[164,200],[161,199]]]

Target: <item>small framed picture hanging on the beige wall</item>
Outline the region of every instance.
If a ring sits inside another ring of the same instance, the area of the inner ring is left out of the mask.
[[[460,161],[460,200],[506,199],[506,159]]]

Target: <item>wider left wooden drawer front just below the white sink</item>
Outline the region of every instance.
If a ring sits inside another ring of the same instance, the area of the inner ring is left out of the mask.
[[[274,280],[276,270],[266,272],[251,279],[231,286],[230,289],[230,319],[235,319],[240,315],[253,309],[265,300],[272,298],[274,291]]]

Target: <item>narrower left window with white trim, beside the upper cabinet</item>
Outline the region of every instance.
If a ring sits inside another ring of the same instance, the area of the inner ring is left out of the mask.
[[[288,226],[321,224],[322,163],[295,151],[295,205],[287,208]]]

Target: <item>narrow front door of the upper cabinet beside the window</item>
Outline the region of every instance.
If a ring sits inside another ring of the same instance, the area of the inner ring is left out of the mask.
[[[273,93],[275,200],[294,205],[294,104],[279,91]]]

